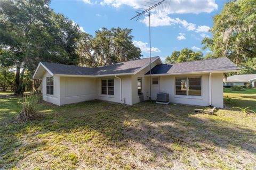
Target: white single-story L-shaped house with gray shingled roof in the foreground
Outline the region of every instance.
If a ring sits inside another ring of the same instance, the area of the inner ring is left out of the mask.
[[[33,79],[43,79],[43,99],[56,105],[86,100],[136,104],[169,93],[172,103],[223,107],[223,73],[239,68],[228,58],[162,64],[159,57],[97,68],[40,62]]]

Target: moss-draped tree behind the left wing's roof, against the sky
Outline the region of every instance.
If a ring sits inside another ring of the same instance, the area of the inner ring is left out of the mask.
[[[81,65],[97,67],[139,59],[141,51],[132,43],[131,32],[118,27],[97,30],[95,37],[83,33],[78,50]]]

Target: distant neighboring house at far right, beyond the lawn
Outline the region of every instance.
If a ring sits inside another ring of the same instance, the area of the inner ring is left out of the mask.
[[[224,86],[245,86],[247,83],[252,84],[252,87],[256,87],[256,74],[239,74],[232,75],[224,81]]]

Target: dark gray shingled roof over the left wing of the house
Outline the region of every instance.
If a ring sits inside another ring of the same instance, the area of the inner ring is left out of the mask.
[[[159,57],[151,57],[151,60],[155,60]],[[107,74],[130,74],[138,71],[141,67],[149,64],[149,58],[143,58],[141,60],[127,61],[117,64],[111,64],[108,66],[102,66],[97,68],[80,67],[74,65],[54,64],[48,62],[41,62],[47,67],[53,74],[67,74],[67,75],[107,75]]]

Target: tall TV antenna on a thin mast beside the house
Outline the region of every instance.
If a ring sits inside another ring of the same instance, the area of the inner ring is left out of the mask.
[[[148,13],[148,17],[149,17],[149,79],[150,79],[150,82],[149,82],[150,97],[149,97],[149,99],[150,100],[151,100],[151,23],[150,23],[150,10],[153,10],[154,8],[156,8],[158,6],[158,12],[159,12],[159,8],[160,8],[159,5],[162,4],[162,12],[163,12],[164,1],[165,0],[161,0],[161,1],[148,0],[148,1],[145,1],[146,3],[148,3],[148,5],[143,5],[143,6],[147,6],[148,9],[139,8],[140,11],[136,11],[137,15],[135,15],[133,18],[131,18],[131,20],[136,18],[136,21],[138,21],[141,18],[142,15],[145,15],[147,13]],[[165,8],[166,8],[166,6],[167,5],[165,4]],[[169,3],[169,6],[170,6],[170,3]],[[165,10],[165,8],[164,8],[164,10]]]

